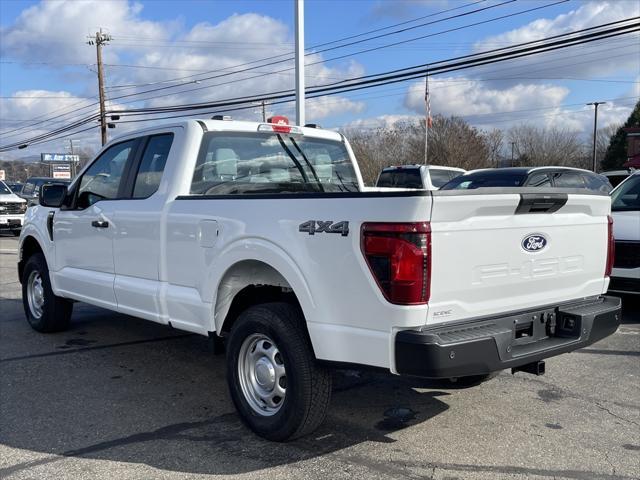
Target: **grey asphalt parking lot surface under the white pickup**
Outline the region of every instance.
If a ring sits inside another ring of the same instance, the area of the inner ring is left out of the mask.
[[[0,478],[640,477],[640,302],[618,332],[547,361],[443,388],[335,374],[329,417],[288,444],[255,437],[205,338],[76,304],[42,335],[22,311],[17,239],[0,236]]]

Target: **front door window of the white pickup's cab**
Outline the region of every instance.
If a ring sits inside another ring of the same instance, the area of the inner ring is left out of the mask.
[[[80,180],[78,208],[87,208],[99,200],[118,198],[122,175],[135,144],[136,140],[118,143],[93,162]]]

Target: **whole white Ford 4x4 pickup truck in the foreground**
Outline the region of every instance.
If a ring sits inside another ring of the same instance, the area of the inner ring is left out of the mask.
[[[63,330],[81,301],[224,340],[242,419],[279,441],[322,422],[330,367],[540,374],[618,327],[607,195],[363,190],[333,131],[190,120],[124,135],[28,210],[27,319]]]

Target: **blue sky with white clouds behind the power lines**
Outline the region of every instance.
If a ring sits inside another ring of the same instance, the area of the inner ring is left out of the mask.
[[[306,84],[429,64],[638,15],[637,0],[306,0]],[[107,108],[122,110],[293,88],[292,60],[262,60],[289,58],[293,22],[293,0],[3,0],[0,146],[97,112],[96,50],[87,39],[100,29],[111,37],[103,48]],[[378,35],[384,36],[370,39]],[[244,71],[232,73],[238,70]],[[607,102],[599,110],[604,127],[624,122],[640,97],[640,37],[636,32],[433,75],[429,82],[433,115],[461,116],[485,130],[531,123],[587,135],[593,109],[586,103]],[[370,129],[424,118],[424,80],[310,99],[306,109],[307,122],[326,128]],[[291,103],[267,110],[294,118]],[[229,113],[261,118],[258,105]],[[163,121],[170,120],[122,116],[109,135]],[[99,147],[95,122],[65,135],[70,137],[0,153],[0,159],[64,152],[68,138],[76,146]]]

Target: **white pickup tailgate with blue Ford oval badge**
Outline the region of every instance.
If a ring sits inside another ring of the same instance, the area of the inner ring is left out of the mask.
[[[432,205],[428,324],[606,289],[608,196],[449,191],[434,192]]]

